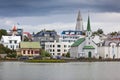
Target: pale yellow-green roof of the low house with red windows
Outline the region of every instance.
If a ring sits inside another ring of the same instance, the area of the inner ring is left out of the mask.
[[[21,42],[20,48],[41,48],[39,42]]]

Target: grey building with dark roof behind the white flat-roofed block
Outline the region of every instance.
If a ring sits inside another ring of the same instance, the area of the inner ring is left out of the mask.
[[[59,41],[59,36],[54,30],[42,30],[33,36],[33,41],[39,41],[43,49],[45,49],[45,42]]]

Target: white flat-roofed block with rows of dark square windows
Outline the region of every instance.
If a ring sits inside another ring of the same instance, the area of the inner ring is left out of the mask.
[[[46,42],[45,50],[53,57],[62,56],[69,52],[71,44],[69,42]]]

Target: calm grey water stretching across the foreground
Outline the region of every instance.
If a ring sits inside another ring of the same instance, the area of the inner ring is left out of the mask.
[[[0,62],[0,80],[120,80],[120,62]]]

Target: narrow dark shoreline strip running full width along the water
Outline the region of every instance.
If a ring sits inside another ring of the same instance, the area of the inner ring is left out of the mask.
[[[43,60],[0,60],[0,62],[28,62],[28,63],[69,63],[69,62],[120,62],[120,59],[43,59]]]

